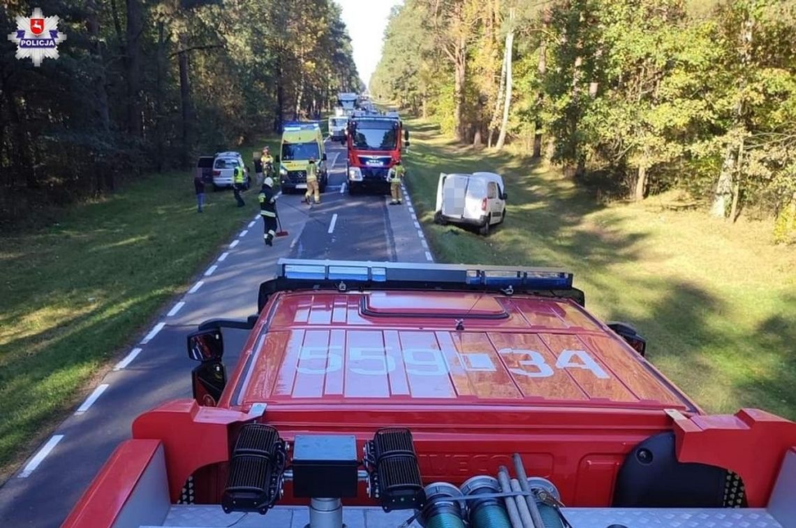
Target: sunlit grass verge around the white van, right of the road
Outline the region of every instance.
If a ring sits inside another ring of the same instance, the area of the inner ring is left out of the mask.
[[[456,146],[410,122],[407,184],[441,262],[564,266],[603,320],[626,320],[648,357],[710,412],[754,406],[796,419],[796,250],[763,223],[716,221],[667,196],[600,205],[527,157]],[[488,238],[433,223],[440,172],[506,181]]]

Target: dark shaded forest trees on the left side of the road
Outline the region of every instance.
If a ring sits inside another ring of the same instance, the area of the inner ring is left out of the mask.
[[[333,0],[188,3],[0,6],[3,35],[33,6],[68,34],[40,68],[0,50],[0,222],[236,149],[362,87]]]

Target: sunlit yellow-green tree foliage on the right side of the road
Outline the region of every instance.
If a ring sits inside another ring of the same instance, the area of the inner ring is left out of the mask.
[[[418,19],[433,14],[428,4],[408,0],[396,9],[373,86],[416,110],[412,96],[403,94],[423,85],[421,69],[431,72],[435,83],[420,93],[435,108],[433,118],[451,131],[453,70],[445,42],[420,31]],[[445,5],[472,6],[467,0]],[[516,10],[513,21],[509,10]],[[510,30],[509,140],[529,146],[538,132],[564,173],[621,197],[681,188],[704,202],[724,174],[736,215],[771,217],[790,204],[796,187],[793,0],[491,0],[470,20],[462,107],[468,130],[494,130]],[[397,68],[389,57],[401,56],[407,64]]]

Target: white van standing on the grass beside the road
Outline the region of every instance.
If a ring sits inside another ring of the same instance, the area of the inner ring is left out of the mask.
[[[434,221],[478,227],[489,235],[490,227],[505,219],[505,185],[500,174],[439,174]]]

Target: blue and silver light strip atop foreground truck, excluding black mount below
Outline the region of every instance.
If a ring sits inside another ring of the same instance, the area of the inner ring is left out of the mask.
[[[552,268],[281,258],[277,276],[292,280],[424,283],[518,289],[571,289],[572,273]]]

